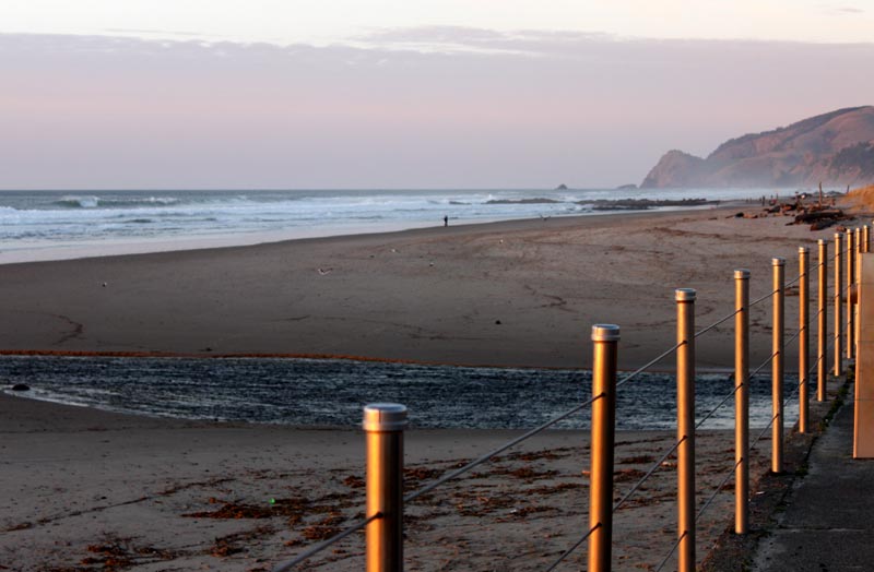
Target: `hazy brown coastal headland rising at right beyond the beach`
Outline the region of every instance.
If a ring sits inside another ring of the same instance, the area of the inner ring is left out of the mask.
[[[669,151],[641,188],[795,187],[874,182],[874,106],[746,134],[706,158]]]

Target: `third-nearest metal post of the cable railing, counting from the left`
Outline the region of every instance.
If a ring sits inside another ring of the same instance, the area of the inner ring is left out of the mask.
[[[676,296],[677,572],[695,571],[695,290]]]

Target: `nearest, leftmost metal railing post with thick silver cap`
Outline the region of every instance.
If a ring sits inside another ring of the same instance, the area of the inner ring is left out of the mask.
[[[364,407],[367,436],[367,572],[403,570],[403,430],[406,407],[371,403]]]

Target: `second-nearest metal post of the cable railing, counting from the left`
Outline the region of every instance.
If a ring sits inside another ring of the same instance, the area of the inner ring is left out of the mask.
[[[589,568],[611,569],[613,540],[613,453],[616,428],[616,357],[619,326],[592,326],[592,441],[589,480]],[[600,397],[599,397],[600,396]]]

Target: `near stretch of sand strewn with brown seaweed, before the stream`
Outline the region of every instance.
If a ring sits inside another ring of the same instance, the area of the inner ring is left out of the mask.
[[[0,414],[2,570],[268,571],[363,513],[357,429],[150,419],[8,395]],[[516,434],[409,431],[406,486]],[[617,436],[617,499],[672,439]],[[700,503],[732,469],[731,443],[727,432],[699,434]],[[588,528],[588,433],[550,431],[412,503],[406,569],[543,570]],[[673,466],[669,460],[617,513],[616,570],[651,569],[670,550]],[[699,553],[724,529],[731,503],[723,492],[708,510]],[[363,552],[355,535],[304,569],[361,570]],[[565,569],[579,568],[584,553]]]

